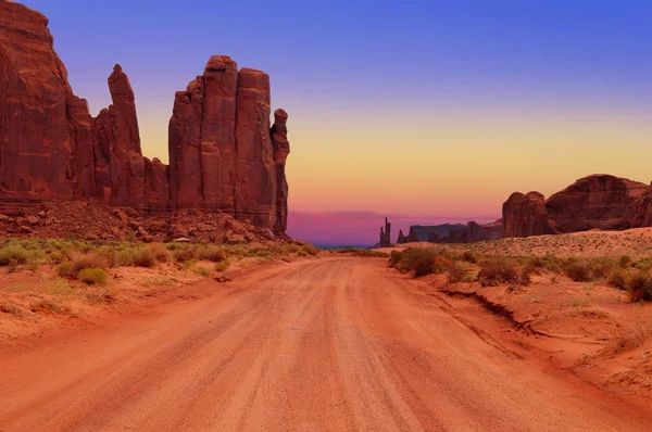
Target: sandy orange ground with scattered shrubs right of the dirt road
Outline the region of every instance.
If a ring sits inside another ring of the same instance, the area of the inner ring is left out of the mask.
[[[641,242],[639,249],[622,255],[557,255],[557,250],[568,252],[569,242],[582,239],[559,237],[504,239],[494,244],[419,243],[390,251],[388,263],[415,283],[452,296],[450,302],[477,300],[525,330],[514,336],[518,343],[536,345],[528,334],[544,338],[542,350],[550,350],[578,376],[600,377],[604,385],[648,394],[652,390],[652,251]],[[529,251],[524,241],[541,242],[540,254],[517,255],[515,251]],[[504,253],[506,244],[510,254]]]

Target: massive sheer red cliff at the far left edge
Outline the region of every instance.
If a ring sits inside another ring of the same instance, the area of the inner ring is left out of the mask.
[[[86,101],[73,94],[48,18],[0,2],[0,191],[72,199],[93,189]]]

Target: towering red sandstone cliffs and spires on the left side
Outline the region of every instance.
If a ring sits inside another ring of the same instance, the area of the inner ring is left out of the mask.
[[[54,52],[48,20],[0,0],[0,200],[98,199],[153,211],[221,211],[285,233],[287,113],[269,127],[269,77],[213,55],[176,92],[170,166],[142,156],[127,75],[91,117]]]

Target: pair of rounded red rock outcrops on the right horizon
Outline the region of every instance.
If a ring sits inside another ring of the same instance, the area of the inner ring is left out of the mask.
[[[605,174],[580,178],[548,200],[539,192],[515,192],[503,204],[503,236],[650,226],[649,194],[644,183]]]

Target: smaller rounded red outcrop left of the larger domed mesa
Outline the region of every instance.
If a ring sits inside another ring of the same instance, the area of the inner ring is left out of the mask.
[[[550,232],[546,199],[541,193],[514,192],[503,203],[503,237],[541,236]]]

